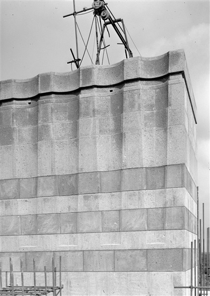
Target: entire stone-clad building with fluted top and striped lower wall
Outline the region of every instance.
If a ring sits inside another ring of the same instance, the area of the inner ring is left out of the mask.
[[[3,274],[63,296],[186,295],[196,105],[182,50],[1,82]],[[41,276],[42,275],[42,276]],[[4,279],[3,279],[4,281]],[[37,283],[39,284],[39,283]]]

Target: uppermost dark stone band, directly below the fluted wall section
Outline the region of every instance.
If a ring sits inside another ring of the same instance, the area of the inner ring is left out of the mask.
[[[174,187],[185,187],[197,201],[196,185],[184,164],[0,180],[0,198],[64,196]]]

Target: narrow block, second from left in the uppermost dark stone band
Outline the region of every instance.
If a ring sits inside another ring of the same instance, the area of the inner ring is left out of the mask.
[[[37,178],[20,179],[20,198],[36,197]]]

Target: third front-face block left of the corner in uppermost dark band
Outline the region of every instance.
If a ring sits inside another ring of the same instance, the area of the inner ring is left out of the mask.
[[[125,169],[121,171],[121,190],[141,190],[146,189],[145,168]]]

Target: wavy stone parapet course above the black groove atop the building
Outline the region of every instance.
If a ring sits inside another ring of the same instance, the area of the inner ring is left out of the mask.
[[[78,91],[87,87],[106,87],[129,80],[157,79],[181,73],[196,122],[196,104],[185,54],[182,49],[157,57],[134,57],[109,66],[91,65],[66,73],[44,73],[29,79],[0,82],[0,100],[28,99],[45,93]]]

